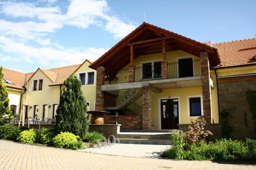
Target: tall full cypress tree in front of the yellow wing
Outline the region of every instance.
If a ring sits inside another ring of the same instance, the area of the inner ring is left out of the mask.
[[[66,89],[60,97],[56,111],[56,130],[58,133],[71,132],[83,138],[89,129],[90,115],[87,115],[81,81],[71,75],[64,85]]]

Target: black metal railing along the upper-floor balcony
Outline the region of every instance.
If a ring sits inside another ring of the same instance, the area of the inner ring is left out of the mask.
[[[114,75],[105,75],[104,84],[118,84],[128,83],[128,69],[124,68]],[[162,79],[161,67],[154,67],[148,69],[143,67],[134,68],[135,82],[149,81],[149,80],[160,80]],[[181,64],[180,62],[167,63],[167,74],[168,79],[173,78],[184,78],[201,75],[201,64],[200,60],[193,60],[193,64]]]

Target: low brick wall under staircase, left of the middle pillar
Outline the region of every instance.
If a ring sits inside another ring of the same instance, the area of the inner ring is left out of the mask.
[[[116,124],[114,115],[103,115],[103,117],[104,124]],[[121,130],[142,130],[142,117],[140,115],[118,115],[117,123],[121,125]]]

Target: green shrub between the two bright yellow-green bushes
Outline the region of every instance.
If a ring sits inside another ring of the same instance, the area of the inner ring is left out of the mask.
[[[42,128],[40,131],[40,143],[52,144],[52,139],[56,136],[54,129]]]

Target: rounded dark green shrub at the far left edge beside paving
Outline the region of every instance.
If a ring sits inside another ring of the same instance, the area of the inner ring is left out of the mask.
[[[17,126],[5,124],[0,126],[0,139],[16,140],[20,133]]]

